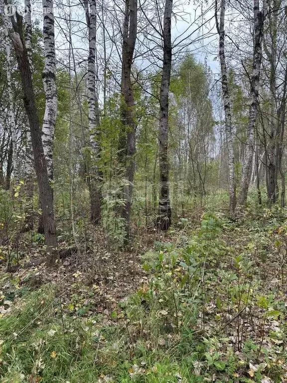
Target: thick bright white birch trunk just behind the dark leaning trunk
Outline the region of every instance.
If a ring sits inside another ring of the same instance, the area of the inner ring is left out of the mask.
[[[43,35],[45,64],[43,70],[43,84],[46,98],[45,114],[42,126],[42,142],[47,162],[49,180],[53,180],[53,142],[57,117],[56,91],[56,53],[54,34],[53,0],[43,0]]]

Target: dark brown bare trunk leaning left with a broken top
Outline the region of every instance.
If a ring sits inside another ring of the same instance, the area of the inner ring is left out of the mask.
[[[47,246],[47,265],[54,265],[59,259],[57,251],[57,235],[53,207],[53,192],[49,183],[47,163],[42,144],[41,129],[35,104],[35,94],[32,84],[32,74],[27,49],[23,37],[22,16],[16,13],[11,16],[13,31],[9,33],[12,40],[18,68],[21,76],[24,107],[29,120],[34,164],[39,188],[39,199],[44,223],[45,243]]]

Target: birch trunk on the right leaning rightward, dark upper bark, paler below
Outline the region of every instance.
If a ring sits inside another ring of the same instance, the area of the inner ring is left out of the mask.
[[[254,150],[254,132],[258,110],[258,90],[260,79],[260,67],[262,61],[262,35],[264,18],[266,15],[267,3],[263,4],[262,11],[259,10],[259,0],[254,0],[254,49],[253,49],[253,68],[250,80],[250,107],[249,120],[247,127],[246,152],[242,168],[240,192],[238,195],[238,209],[241,210],[246,203],[247,192],[250,182],[250,171]]]

